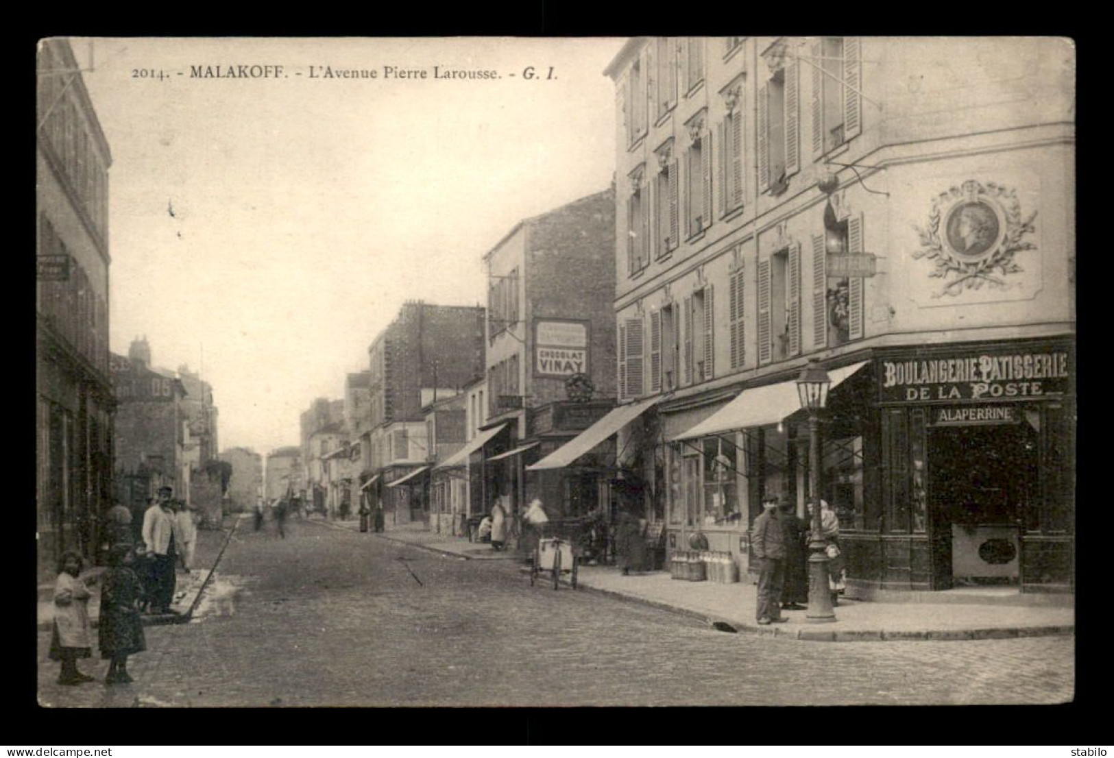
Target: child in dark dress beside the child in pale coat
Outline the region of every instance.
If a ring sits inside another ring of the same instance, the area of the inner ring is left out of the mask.
[[[100,657],[109,659],[105,683],[128,683],[128,656],[147,649],[139,618],[143,584],[133,570],[131,545],[119,544],[108,553],[108,571],[100,593],[97,627]]]

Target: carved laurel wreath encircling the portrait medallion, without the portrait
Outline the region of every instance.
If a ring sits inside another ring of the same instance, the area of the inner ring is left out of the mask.
[[[997,201],[1005,211],[1006,234],[991,255],[981,260],[962,260],[956,257],[940,239],[940,220],[944,216],[941,208],[947,210],[965,198],[984,197]],[[967,289],[980,289],[984,284],[995,289],[1005,288],[1006,277],[1025,270],[1020,264],[1014,260],[1014,257],[1022,250],[1036,249],[1036,245],[1024,239],[1025,235],[1035,232],[1033,222],[1036,216],[1037,211],[1034,210],[1023,220],[1017,190],[993,181],[984,185],[968,180],[961,187],[954,186],[948,191],[940,193],[932,201],[932,213],[928,217],[928,226],[921,228],[913,225],[913,229],[920,236],[921,249],[915,252],[912,257],[930,260],[934,268],[929,276],[946,282],[934,297],[959,295]],[[950,282],[948,282],[949,278]]]

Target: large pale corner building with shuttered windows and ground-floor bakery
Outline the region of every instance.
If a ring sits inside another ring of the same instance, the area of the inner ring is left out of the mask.
[[[764,495],[804,514],[815,358],[817,494],[860,597],[1074,587],[1074,62],[1052,38],[622,48],[617,377],[642,407],[616,446],[670,547],[701,532],[745,570]]]

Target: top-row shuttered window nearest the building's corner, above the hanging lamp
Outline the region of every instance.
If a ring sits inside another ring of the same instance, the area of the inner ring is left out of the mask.
[[[834,150],[862,130],[858,37],[824,37],[812,46],[812,151]]]

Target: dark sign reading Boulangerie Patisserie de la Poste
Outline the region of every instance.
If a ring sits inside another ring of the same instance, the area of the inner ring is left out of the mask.
[[[879,360],[879,401],[1026,400],[1071,392],[1074,367],[1065,350],[1010,347],[913,360]]]

